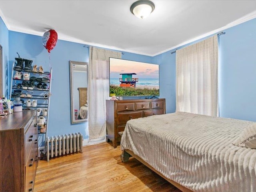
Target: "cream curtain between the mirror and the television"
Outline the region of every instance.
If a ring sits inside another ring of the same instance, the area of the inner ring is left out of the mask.
[[[106,136],[106,99],[109,98],[109,58],[120,52],[90,47],[88,73],[88,128],[90,139]]]

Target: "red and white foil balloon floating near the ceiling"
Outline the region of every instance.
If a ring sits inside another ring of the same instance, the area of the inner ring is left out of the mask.
[[[49,53],[56,46],[57,40],[58,34],[53,29],[46,31],[42,36],[42,43]]]

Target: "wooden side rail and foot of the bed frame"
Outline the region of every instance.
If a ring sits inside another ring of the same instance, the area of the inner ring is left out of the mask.
[[[160,175],[162,178],[164,178],[165,180],[170,182],[172,185],[176,186],[176,188],[178,188],[179,190],[181,190],[183,192],[193,192],[192,190],[190,190],[190,189],[188,189],[188,188],[178,184],[177,182],[175,182],[173,180],[170,180],[170,179],[166,178],[165,176],[163,176],[160,172],[158,172],[156,169],[154,169],[152,166],[150,166],[147,162],[142,160],[142,158],[140,158],[139,156],[135,155],[134,152],[132,152],[131,150],[128,150],[128,149],[124,150],[122,152],[122,154],[120,155],[120,158],[121,158],[122,162],[127,162],[131,156],[136,158],[142,164],[146,165],[148,168],[150,168],[152,171],[154,171],[155,173]]]

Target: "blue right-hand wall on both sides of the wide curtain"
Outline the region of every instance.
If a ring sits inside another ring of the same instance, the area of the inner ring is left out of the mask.
[[[220,116],[256,121],[256,19],[224,32],[219,36]],[[168,113],[176,110],[176,54],[172,51],[152,59],[160,64],[160,96],[166,98]]]

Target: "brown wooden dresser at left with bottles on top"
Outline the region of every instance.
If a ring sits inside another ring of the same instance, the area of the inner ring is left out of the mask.
[[[0,191],[33,191],[38,164],[36,123],[36,110],[0,118]]]

